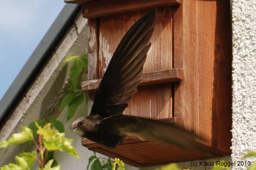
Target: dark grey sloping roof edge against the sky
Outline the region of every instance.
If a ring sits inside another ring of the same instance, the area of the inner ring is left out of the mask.
[[[16,108],[25,92],[31,86],[31,83],[34,82],[42,67],[51,57],[52,52],[62,37],[74,23],[79,10],[80,5],[76,4],[66,4],[63,7],[52,26],[29,57],[29,60],[27,60],[14,82],[12,82],[0,100],[0,124],[11,116],[10,113]]]

